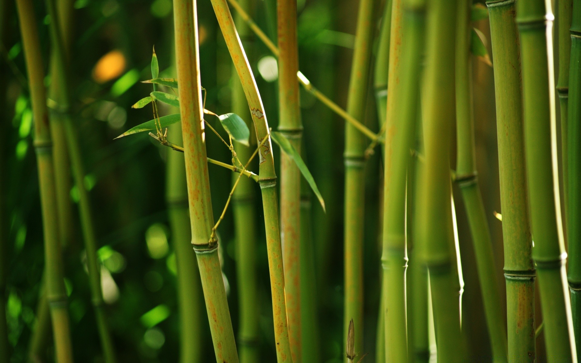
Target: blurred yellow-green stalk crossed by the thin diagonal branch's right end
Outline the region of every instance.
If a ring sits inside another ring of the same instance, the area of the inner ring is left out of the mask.
[[[373,35],[374,0],[360,0],[347,95],[347,113],[363,120],[367,99]],[[367,139],[353,125],[345,124],[345,312],[343,346],[353,319],[355,351],[363,350],[363,235],[365,202],[365,147]],[[345,362],[347,358],[345,358]]]

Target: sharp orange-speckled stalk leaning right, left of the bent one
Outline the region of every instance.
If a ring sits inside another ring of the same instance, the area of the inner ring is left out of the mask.
[[[180,113],[192,244],[198,260],[216,361],[237,363],[234,330],[218,259],[218,240],[211,234],[214,218],[202,128],[196,1],[174,0],[173,5],[175,60],[180,85]]]

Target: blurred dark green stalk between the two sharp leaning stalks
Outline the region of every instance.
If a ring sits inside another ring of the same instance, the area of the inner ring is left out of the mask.
[[[242,0],[242,6],[251,9],[249,0]],[[252,53],[252,32],[245,21],[237,13],[235,16],[236,28],[244,48],[249,57]],[[234,68],[234,66],[232,66]],[[252,119],[248,102],[242,89],[242,84],[232,72],[232,112],[238,114],[243,120]],[[249,128],[252,125],[248,125]],[[250,137],[250,148],[239,143],[234,144],[238,158],[246,163],[250,159],[252,149],[256,147],[256,138]],[[236,182],[238,175],[232,175],[232,183]],[[233,209],[234,231],[236,233],[236,281],[238,282],[238,307],[240,311],[238,330],[238,351],[241,363],[253,363],[260,360],[259,351],[259,307],[256,304],[257,278],[256,278],[256,250],[257,226],[256,226],[256,192],[253,181],[242,178],[238,188],[234,191]]]

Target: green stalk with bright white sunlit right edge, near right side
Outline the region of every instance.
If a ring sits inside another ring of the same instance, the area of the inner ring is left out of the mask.
[[[532,256],[539,276],[547,358],[576,362],[556,164],[552,20],[550,2],[517,2]]]

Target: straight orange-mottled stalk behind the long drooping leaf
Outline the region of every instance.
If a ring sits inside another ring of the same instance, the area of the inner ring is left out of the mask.
[[[277,1],[278,34],[278,131],[300,150],[303,124],[300,117],[299,52],[297,48],[296,0]],[[300,306],[300,182],[299,168],[281,154],[281,243],[284,247],[286,314],[292,361],[302,361]]]

